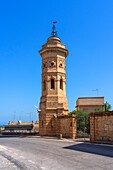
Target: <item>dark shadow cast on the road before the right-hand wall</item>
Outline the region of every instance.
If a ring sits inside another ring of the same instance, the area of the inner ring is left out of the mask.
[[[64,147],[64,149],[71,149],[101,156],[113,157],[113,146],[79,143],[71,146]]]

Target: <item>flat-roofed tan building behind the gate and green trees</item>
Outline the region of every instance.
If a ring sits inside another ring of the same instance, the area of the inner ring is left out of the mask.
[[[104,111],[104,97],[80,97],[76,101],[76,110],[86,112]]]

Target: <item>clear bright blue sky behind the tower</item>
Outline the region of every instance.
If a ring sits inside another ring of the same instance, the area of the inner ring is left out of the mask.
[[[97,88],[113,106],[113,0],[0,0],[0,124],[37,119],[38,51],[54,20],[69,50],[69,111],[78,97],[97,96]]]

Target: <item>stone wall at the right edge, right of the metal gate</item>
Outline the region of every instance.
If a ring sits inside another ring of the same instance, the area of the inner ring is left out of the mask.
[[[113,111],[90,114],[92,142],[113,142]]]

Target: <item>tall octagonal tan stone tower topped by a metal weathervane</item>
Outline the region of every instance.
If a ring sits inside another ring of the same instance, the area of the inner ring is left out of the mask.
[[[39,134],[56,135],[58,116],[68,115],[66,98],[66,57],[68,50],[57,37],[55,22],[52,36],[39,51],[42,57],[42,96],[39,107]]]

